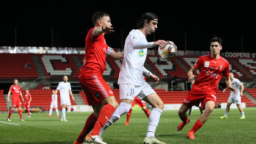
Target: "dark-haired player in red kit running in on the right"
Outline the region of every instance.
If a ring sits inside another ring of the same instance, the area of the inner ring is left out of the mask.
[[[197,81],[193,84],[192,89],[187,94],[178,111],[182,122],[177,127],[177,131],[180,131],[189,123],[186,112],[190,107],[193,105],[198,107],[201,102],[202,110],[205,109],[192,129],[187,133],[187,138],[195,139],[194,133],[208,120],[216,104],[217,85],[222,76],[225,78],[228,89],[236,93],[236,89],[231,85],[229,63],[220,56],[220,50],[222,49],[221,44],[222,39],[217,37],[212,38],[210,40],[211,54],[199,57],[194,66],[187,73],[189,82],[193,83],[196,77],[193,73],[195,73],[196,70],[200,70]]]

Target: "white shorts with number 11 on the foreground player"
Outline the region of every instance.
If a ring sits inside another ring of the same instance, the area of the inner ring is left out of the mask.
[[[120,100],[122,99],[130,99],[134,100],[135,96],[139,96],[140,98],[145,98],[150,94],[156,93],[147,82],[143,85],[133,85],[133,84],[119,84],[119,95]]]

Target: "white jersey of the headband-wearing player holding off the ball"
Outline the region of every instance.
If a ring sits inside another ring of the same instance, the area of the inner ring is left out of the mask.
[[[119,73],[118,84],[143,85],[144,62],[147,48],[152,48],[154,42],[148,42],[140,30],[132,30],[126,37],[124,57]],[[146,69],[147,70],[147,69]]]

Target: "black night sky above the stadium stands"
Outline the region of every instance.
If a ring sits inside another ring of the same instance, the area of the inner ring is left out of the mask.
[[[209,50],[209,40],[215,35],[223,38],[223,51],[241,52],[243,38],[243,52],[256,52],[255,12],[251,4],[118,2],[121,1],[1,4],[0,46],[15,46],[16,26],[17,46],[51,46],[53,27],[54,46],[84,47],[87,29],[93,27],[93,13],[106,11],[115,30],[106,35],[106,41],[109,46],[120,48],[121,30],[124,42],[129,31],[136,28],[137,19],[150,11],[159,17],[156,40],[173,41],[179,50],[185,50],[186,32],[187,50]],[[153,41],[154,35],[147,39]]]

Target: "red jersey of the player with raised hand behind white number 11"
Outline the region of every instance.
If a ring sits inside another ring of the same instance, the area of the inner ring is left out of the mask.
[[[79,78],[88,74],[103,75],[106,68],[106,53],[108,45],[104,35],[93,37],[93,30],[89,30],[85,39],[85,62],[80,68]]]

